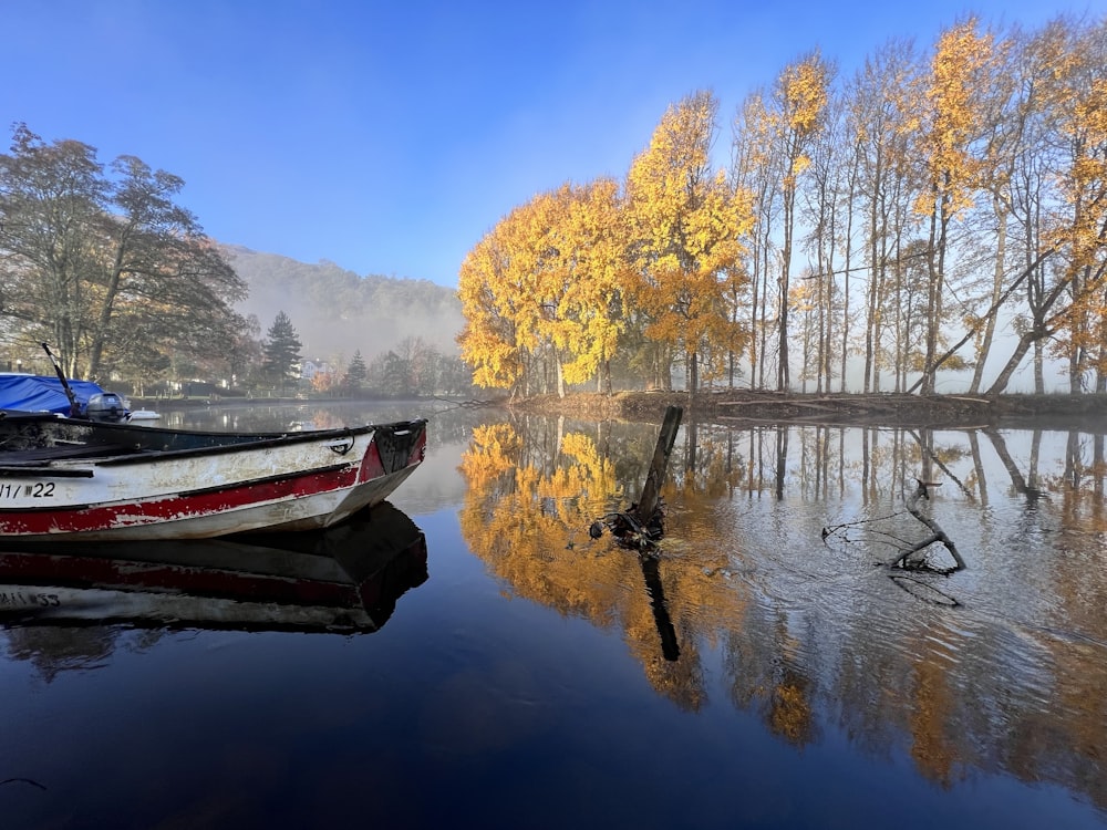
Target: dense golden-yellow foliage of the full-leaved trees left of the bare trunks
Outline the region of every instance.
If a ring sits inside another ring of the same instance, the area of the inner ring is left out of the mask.
[[[710,93],[689,96],[634,160],[625,195],[611,179],[562,185],[470,252],[458,342],[478,384],[516,386],[550,365],[559,383],[583,383],[643,313],[648,339],[689,353],[712,339],[724,349],[741,341],[727,303],[744,280],[752,198],[712,170],[716,112]]]

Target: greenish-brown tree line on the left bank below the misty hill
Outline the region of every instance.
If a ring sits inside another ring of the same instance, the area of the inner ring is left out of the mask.
[[[247,286],[220,246],[177,203],[184,181],[134,156],[110,165],[73,139],[12,127],[0,155],[0,338],[8,369],[52,373],[49,342],[71,377],[144,394],[205,380],[239,392],[300,390],[301,343],[280,312],[262,335],[234,304]],[[339,362],[332,359],[331,363]],[[467,393],[470,374],[418,338],[315,391]]]

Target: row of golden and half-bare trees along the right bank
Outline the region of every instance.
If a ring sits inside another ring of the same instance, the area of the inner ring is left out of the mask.
[[[997,394],[1028,360],[1107,391],[1107,21],[810,52],[731,128],[714,164],[694,92],[623,180],[500,219],[459,272],[475,381]]]

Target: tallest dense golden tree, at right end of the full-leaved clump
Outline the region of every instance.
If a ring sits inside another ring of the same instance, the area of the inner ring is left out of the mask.
[[[747,336],[726,307],[724,286],[743,273],[739,238],[753,220],[748,196],[732,193],[724,170],[712,170],[717,110],[707,92],[671,107],[627,183],[634,267],[628,292],[650,314],[646,335],[684,352],[691,394],[704,350],[714,343],[737,351]],[[661,369],[668,387],[669,367]]]

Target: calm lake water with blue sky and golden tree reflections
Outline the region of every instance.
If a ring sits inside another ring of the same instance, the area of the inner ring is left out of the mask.
[[[164,422],[415,415],[377,630],[9,620],[0,826],[1107,827],[1101,434],[686,421],[641,556],[658,425]]]

